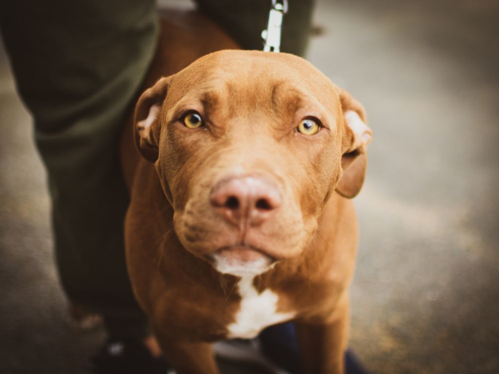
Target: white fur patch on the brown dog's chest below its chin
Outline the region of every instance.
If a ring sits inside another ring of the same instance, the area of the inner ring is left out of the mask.
[[[277,312],[277,294],[266,289],[258,294],[253,287],[254,276],[242,277],[238,282],[241,295],[241,309],[236,314],[236,322],[227,326],[229,338],[254,338],[267,326],[287,321],[294,312]]]

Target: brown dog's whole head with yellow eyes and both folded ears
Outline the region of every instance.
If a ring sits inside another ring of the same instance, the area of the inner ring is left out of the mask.
[[[299,57],[220,51],[144,92],[136,141],[183,246],[243,276],[300,255],[331,193],[359,191],[371,139],[364,118]]]

